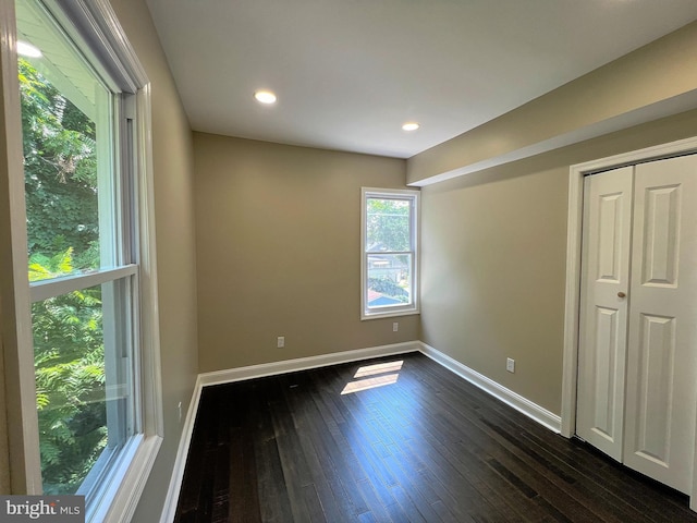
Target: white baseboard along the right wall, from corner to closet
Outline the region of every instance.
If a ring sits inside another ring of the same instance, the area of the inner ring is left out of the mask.
[[[441,364],[443,367],[455,373],[457,376],[466,379],[470,384],[479,387],[485,392],[490,393],[494,398],[498,398],[506,405],[512,406],[516,411],[522,412],[526,416],[533,418],[540,425],[546,426],[550,430],[560,433],[562,428],[562,418],[553,412],[541,408],[537,403],[531,402],[527,398],[523,398],[521,394],[513,392],[511,389],[506,389],[502,385],[487,378],[486,376],[473,370],[466,365],[453,360],[447,354],[433,349],[426,343],[419,342],[420,352],[426,354],[435,362]]]

